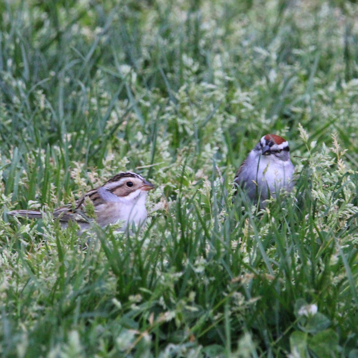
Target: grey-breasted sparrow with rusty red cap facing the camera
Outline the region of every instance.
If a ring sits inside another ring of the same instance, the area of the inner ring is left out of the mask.
[[[275,134],[263,136],[248,154],[236,172],[234,182],[247,193],[248,197],[265,207],[264,200],[281,188],[292,190],[292,174],[295,170],[290,160],[288,142]]]

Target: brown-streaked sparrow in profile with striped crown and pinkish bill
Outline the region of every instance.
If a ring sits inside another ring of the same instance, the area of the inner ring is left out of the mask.
[[[54,218],[59,218],[62,227],[67,227],[69,221],[76,221],[81,230],[89,227],[83,204],[89,198],[95,207],[95,216],[98,225],[105,227],[107,224],[118,220],[125,220],[122,230],[131,226],[142,226],[147,218],[145,198],[147,191],[154,189],[154,185],[147,182],[142,176],[127,172],[113,176],[101,187],[89,190],[76,201],[74,209],[72,204],[55,209]],[[34,210],[14,210],[10,215],[28,218],[41,218],[42,214]]]

